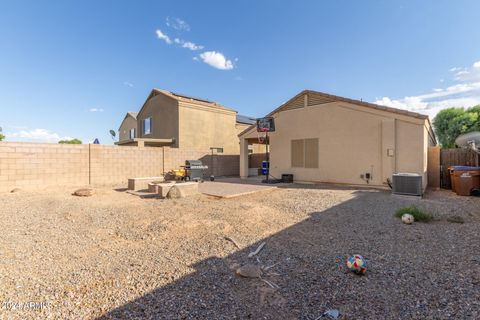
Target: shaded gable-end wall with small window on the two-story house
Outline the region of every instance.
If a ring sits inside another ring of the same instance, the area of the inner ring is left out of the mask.
[[[152,117],[151,133],[143,134],[143,120]],[[138,137],[155,139],[175,139],[174,147],[179,140],[178,102],[175,99],[159,94],[148,100],[137,115]]]

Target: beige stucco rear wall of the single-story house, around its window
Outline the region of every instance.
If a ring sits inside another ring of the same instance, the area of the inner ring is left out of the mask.
[[[394,172],[415,172],[425,176],[426,184],[422,119],[346,102],[305,106],[274,117],[270,159],[275,177],[293,173],[297,181],[367,184],[360,175],[371,173],[369,184],[384,186]],[[255,133],[242,138],[250,136]],[[291,140],[306,138],[319,139],[319,167],[292,168]]]

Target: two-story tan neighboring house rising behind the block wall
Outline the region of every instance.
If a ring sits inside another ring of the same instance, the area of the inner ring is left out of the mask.
[[[216,102],[153,89],[138,113],[125,116],[117,144],[239,154],[238,134],[254,122]]]

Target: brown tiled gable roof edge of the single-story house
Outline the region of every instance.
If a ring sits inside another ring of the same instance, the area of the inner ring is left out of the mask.
[[[341,101],[341,102],[356,104],[356,105],[366,107],[366,108],[370,108],[370,109],[376,109],[376,110],[380,110],[380,111],[386,111],[386,112],[400,114],[400,115],[407,116],[407,117],[427,120],[429,131],[431,131],[430,134],[433,136],[433,139],[436,141],[435,134],[433,133],[433,130],[431,130],[432,125],[430,123],[430,119],[428,118],[427,115],[416,113],[416,112],[411,112],[411,111],[407,111],[407,110],[403,110],[403,109],[397,109],[397,108],[382,106],[382,105],[378,105],[378,104],[374,104],[374,103],[365,102],[365,101],[362,101],[362,100],[355,100],[355,99],[335,96],[335,95],[332,95],[332,94],[323,93],[323,92],[314,91],[314,90],[303,90],[302,92],[298,93],[297,95],[295,95],[293,98],[291,98],[287,102],[282,103],[278,108],[274,109],[272,112],[267,114],[267,117],[272,116],[273,114],[275,114],[277,112],[286,111],[286,110],[293,110],[293,109],[298,109],[298,108],[304,107],[304,103],[305,103],[304,102],[304,96],[305,95],[308,95],[307,105],[309,105],[309,106]],[[255,127],[255,124],[252,124],[250,127],[243,130],[239,134],[239,136],[247,133],[248,131],[250,131],[254,127]]]

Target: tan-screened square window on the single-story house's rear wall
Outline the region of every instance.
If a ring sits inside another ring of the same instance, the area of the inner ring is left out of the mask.
[[[292,168],[318,168],[318,138],[291,142]]]

